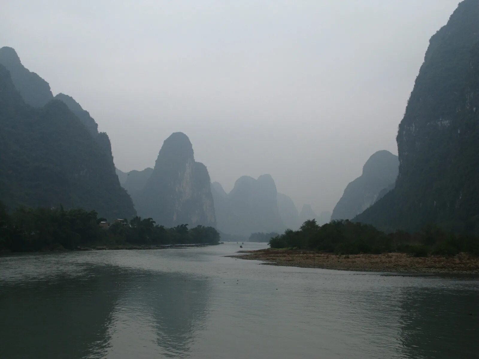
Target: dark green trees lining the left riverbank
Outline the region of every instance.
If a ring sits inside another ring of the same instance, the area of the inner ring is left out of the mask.
[[[128,224],[100,227],[104,218],[95,211],[21,207],[7,213],[0,202],[0,250],[38,251],[75,249],[95,245],[216,244],[219,233],[213,227],[188,224],[174,228],[156,225],[151,218],[134,217]]]

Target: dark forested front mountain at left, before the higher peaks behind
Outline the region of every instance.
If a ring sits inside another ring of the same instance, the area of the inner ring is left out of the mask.
[[[108,219],[135,215],[113,158],[65,103],[29,106],[2,65],[0,93],[0,201],[10,209],[63,205]]]

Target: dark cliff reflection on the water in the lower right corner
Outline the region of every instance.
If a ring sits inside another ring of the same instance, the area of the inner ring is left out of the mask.
[[[408,288],[401,297],[408,358],[479,358],[477,290]]]

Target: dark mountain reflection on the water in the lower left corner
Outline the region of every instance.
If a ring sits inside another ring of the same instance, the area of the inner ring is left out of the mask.
[[[54,279],[1,286],[4,358],[104,355],[120,288],[112,268],[88,268],[84,275],[62,273]]]

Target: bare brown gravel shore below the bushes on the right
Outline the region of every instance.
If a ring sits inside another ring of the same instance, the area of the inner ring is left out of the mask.
[[[460,253],[453,257],[412,257],[405,253],[336,255],[303,250],[260,249],[228,256],[263,260],[268,265],[395,273],[478,273],[479,257]]]

